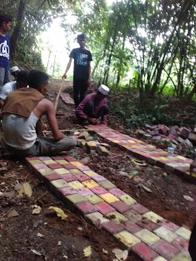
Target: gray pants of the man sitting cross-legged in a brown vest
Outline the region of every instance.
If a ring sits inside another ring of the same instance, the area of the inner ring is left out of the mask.
[[[65,137],[56,141],[55,139],[38,135],[34,145],[27,150],[17,150],[11,147],[8,147],[8,150],[19,158],[31,156],[55,156],[61,151],[71,150],[76,147],[76,144],[77,140],[73,136]]]

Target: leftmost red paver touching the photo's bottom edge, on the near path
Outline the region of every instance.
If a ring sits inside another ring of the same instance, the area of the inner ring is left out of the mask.
[[[153,251],[153,249],[150,249],[148,246],[146,246],[144,243],[139,243],[131,249],[135,253],[142,258],[142,260],[145,261],[153,261],[155,258],[157,258],[158,254]]]

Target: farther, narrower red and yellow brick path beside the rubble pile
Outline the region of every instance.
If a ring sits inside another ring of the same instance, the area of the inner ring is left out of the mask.
[[[151,144],[147,144],[140,139],[129,137],[128,135],[122,134],[118,131],[114,131],[112,128],[105,126],[87,126],[89,131],[94,131],[100,137],[102,137],[106,143],[114,145],[125,152],[144,159],[147,162],[164,168],[165,170],[174,172],[179,176],[186,176],[191,181],[196,181],[196,172],[190,176],[189,168],[192,159],[174,154],[173,157],[168,158],[168,152],[156,148]],[[106,131],[108,129],[108,131]],[[103,130],[103,131],[102,131]]]

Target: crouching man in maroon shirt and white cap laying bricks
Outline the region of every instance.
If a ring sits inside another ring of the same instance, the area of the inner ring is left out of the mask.
[[[76,108],[76,117],[80,124],[107,124],[107,95],[109,88],[101,84],[96,93],[88,94]],[[100,118],[100,121],[99,121]]]

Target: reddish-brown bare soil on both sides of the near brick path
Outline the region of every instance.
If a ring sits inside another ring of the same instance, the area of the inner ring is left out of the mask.
[[[47,98],[54,102],[56,91],[61,81],[51,80]],[[65,82],[72,87],[72,82]],[[60,129],[79,129],[76,117],[72,114],[74,106],[67,106],[59,100],[57,120]],[[47,122],[45,122],[47,123]],[[112,126],[113,124],[109,122]],[[69,134],[69,133],[68,133]],[[94,135],[94,139],[99,139]],[[3,144],[1,153],[4,152]],[[82,160],[92,170],[106,177],[118,188],[127,192],[138,203],[153,212],[167,218],[177,225],[190,229],[195,223],[195,185],[179,179],[155,166],[138,166],[131,161],[131,156],[118,148],[111,148],[108,157],[97,154],[89,155],[83,148],[75,148],[70,152],[76,159]],[[126,176],[122,176],[122,171]],[[32,197],[19,196],[14,190],[18,183],[30,183]],[[151,189],[147,192],[145,187]],[[67,205],[58,201],[45,185],[36,178],[25,162],[10,159],[6,155],[0,160],[0,260],[113,260],[111,252],[121,248],[106,231],[98,229],[72,212]],[[193,198],[187,201],[185,196]],[[34,205],[41,207],[40,214],[32,214]],[[61,207],[68,215],[67,220],[56,216],[50,206]],[[8,218],[12,210],[19,216]],[[39,222],[38,222],[39,221]],[[43,237],[38,236],[38,233]],[[83,257],[83,249],[91,245],[91,257]],[[103,249],[108,253],[103,253]],[[34,253],[34,250],[39,251]],[[139,259],[130,253],[130,261]]]

